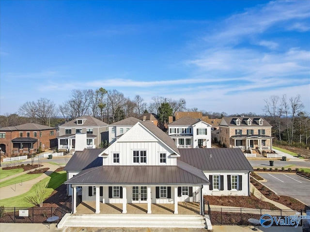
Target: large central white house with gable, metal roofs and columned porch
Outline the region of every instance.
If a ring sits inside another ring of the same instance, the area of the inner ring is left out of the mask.
[[[152,213],[152,204],[171,203],[174,214],[178,214],[178,202],[200,202],[202,214],[203,194],[213,194],[208,190],[210,174],[218,174],[220,179],[223,173],[226,179],[229,174],[242,175],[237,182],[241,188],[235,187],[233,177],[235,191],[215,192],[248,195],[249,172],[253,169],[240,149],[178,149],[165,132],[143,121],[106,149],[76,152],[64,170],[64,184],[73,196],[73,213],[77,212],[75,202],[79,193],[82,201],[96,202],[96,214],[100,213],[100,203],[121,203],[123,213],[127,212],[128,203],[146,203],[148,214]],[[213,179],[216,189],[218,182]],[[220,185],[225,185],[224,181],[225,178]]]

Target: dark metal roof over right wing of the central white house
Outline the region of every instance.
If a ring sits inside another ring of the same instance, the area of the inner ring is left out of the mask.
[[[181,160],[203,171],[252,171],[239,148],[179,148]]]

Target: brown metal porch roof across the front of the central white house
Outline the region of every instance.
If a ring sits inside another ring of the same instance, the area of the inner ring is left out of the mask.
[[[177,166],[101,166],[83,170],[65,184],[209,185],[202,171],[183,162]]]

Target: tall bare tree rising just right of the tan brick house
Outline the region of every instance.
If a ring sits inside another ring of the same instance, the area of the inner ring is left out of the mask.
[[[280,104],[278,105],[278,102],[280,101]],[[264,107],[264,112],[268,113],[269,116],[271,116],[276,124],[277,131],[279,133],[279,140],[281,140],[281,117],[284,114],[284,102],[283,98],[280,99],[277,95],[270,96],[269,99],[265,99],[264,102],[266,102],[266,105]]]

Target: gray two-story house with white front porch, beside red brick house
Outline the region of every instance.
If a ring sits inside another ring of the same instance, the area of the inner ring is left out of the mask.
[[[96,148],[108,141],[108,124],[92,116],[80,116],[59,126],[58,150]]]

